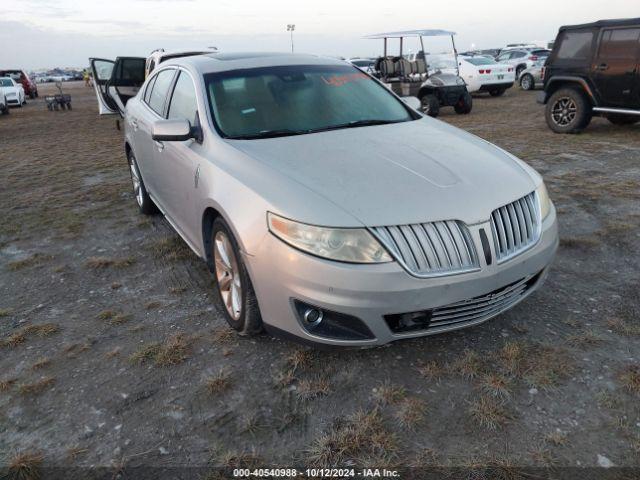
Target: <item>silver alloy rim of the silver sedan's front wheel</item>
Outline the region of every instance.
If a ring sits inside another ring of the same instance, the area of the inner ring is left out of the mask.
[[[216,233],[213,256],[220,296],[231,318],[238,320],[242,314],[242,280],[231,241],[224,232]]]

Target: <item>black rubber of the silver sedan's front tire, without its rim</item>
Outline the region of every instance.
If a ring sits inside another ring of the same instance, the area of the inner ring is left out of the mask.
[[[224,235],[229,239],[231,244],[231,248],[233,249],[233,254],[236,257],[236,263],[238,265],[238,270],[240,274],[240,284],[242,288],[241,293],[241,307],[240,307],[240,318],[235,320],[231,317],[227,308],[224,305],[224,300],[222,299],[222,293],[220,292],[220,287],[218,286],[218,278],[216,275],[216,265],[215,265],[215,238],[218,232],[224,233]],[[242,259],[242,255],[240,254],[240,248],[238,248],[238,242],[236,238],[233,236],[231,229],[227,225],[227,222],[222,217],[218,217],[213,221],[213,228],[211,229],[211,263],[213,264],[213,277],[216,287],[216,297],[220,302],[220,309],[224,313],[224,317],[227,320],[227,323],[233,328],[240,332],[241,335],[253,336],[262,332],[262,317],[260,316],[260,308],[258,306],[258,299],[256,298],[256,294],[253,290],[253,285],[251,284],[251,279],[249,278],[249,273],[247,272],[247,267],[245,266],[244,260]]]

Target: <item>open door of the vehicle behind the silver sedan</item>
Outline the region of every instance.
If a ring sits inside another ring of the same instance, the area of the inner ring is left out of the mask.
[[[100,115],[119,113],[124,116],[127,101],[136,96],[144,83],[146,59],[118,57],[115,62],[104,58],[89,60]]]

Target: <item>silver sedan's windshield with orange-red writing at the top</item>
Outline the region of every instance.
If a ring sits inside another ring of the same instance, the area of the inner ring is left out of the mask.
[[[287,65],[205,75],[220,133],[252,139],[418,118],[350,65]]]

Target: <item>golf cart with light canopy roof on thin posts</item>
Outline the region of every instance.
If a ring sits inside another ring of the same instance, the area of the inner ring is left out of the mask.
[[[386,84],[394,93],[402,97],[418,97],[422,110],[431,117],[437,117],[441,107],[453,107],[456,113],[471,112],[472,100],[464,80],[457,70],[458,53],[453,39],[454,32],[447,30],[407,30],[367,35],[364,38],[383,39],[384,54],[374,64],[374,76]],[[444,73],[429,68],[424,50],[423,37],[451,37],[456,73]],[[400,39],[400,54],[388,54],[388,40]],[[419,38],[420,51],[411,60],[403,55],[405,38]]]

